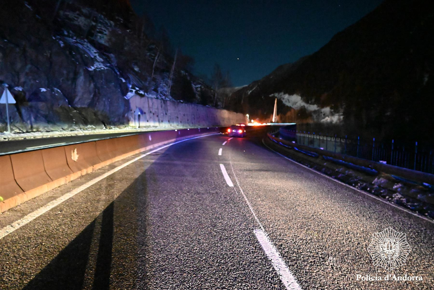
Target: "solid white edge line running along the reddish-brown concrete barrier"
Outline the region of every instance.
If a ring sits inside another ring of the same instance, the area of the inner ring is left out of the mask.
[[[45,206],[40,207],[39,209],[33,211],[32,213],[27,214],[25,217],[21,218],[20,220],[16,220],[15,222],[11,223],[10,225],[7,225],[6,227],[3,227],[3,229],[0,230],[0,240],[3,237],[6,237],[8,234],[12,233],[15,230],[18,230],[20,227],[23,227],[24,225],[26,225],[27,223],[30,223],[32,220],[36,219],[36,217],[41,216],[42,214],[46,213],[47,211],[51,210],[53,207],[58,206],[60,203],[64,202],[65,200],[68,200],[69,198],[73,197],[74,195],[76,195],[77,193],[80,193],[81,191],[85,190],[86,188],[92,186],[93,184],[97,183],[98,181],[104,179],[105,177],[108,177],[109,175],[115,173],[118,170],[121,170],[122,168],[124,168],[125,166],[151,154],[154,152],[157,152],[158,150],[170,147],[174,144],[177,143],[181,143],[187,140],[192,140],[192,139],[196,139],[196,138],[201,138],[201,137],[207,137],[207,136],[211,136],[211,135],[217,135],[218,133],[212,133],[212,134],[207,134],[207,135],[203,135],[203,136],[197,136],[197,137],[192,137],[192,138],[188,138],[188,139],[184,139],[184,140],[180,140],[177,142],[173,142],[173,143],[169,143],[166,144],[162,147],[158,147],[157,149],[151,150],[145,154],[142,154],[130,161],[127,161],[125,163],[123,163],[122,165],[119,165],[118,167],[100,175],[99,177],[95,177],[94,179],[88,181],[87,183],[75,188],[74,190],[71,190],[69,193],[65,193],[64,195],[62,195],[61,197],[56,198],[55,200],[50,201],[49,203],[47,203]]]

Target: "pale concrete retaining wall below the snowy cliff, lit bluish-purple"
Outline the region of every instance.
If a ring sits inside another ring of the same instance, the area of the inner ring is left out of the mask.
[[[131,97],[128,113],[132,127],[208,127],[248,123],[245,115],[214,107],[161,100],[151,97]],[[143,113],[136,113],[137,111]]]

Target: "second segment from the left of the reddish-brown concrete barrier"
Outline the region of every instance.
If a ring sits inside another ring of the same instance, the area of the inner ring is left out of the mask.
[[[10,155],[13,176],[16,183],[25,191],[47,190],[47,183],[51,178],[45,172],[41,150],[29,151]],[[39,189],[39,187],[45,187]]]

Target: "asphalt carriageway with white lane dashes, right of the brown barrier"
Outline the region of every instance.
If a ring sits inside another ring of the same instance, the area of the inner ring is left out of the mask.
[[[388,227],[411,247],[391,271],[367,249]],[[433,223],[259,137],[201,137],[118,161],[3,213],[0,237],[4,290],[434,288]],[[423,280],[360,278],[388,274]]]

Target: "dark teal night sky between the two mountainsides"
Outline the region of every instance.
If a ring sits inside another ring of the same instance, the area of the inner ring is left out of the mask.
[[[214,63],[234,86],[258,80],[283,63],[319,50],[337,32],[381,0],[131,0],[174,47],[194,57],[194,73],[210,75]]]

